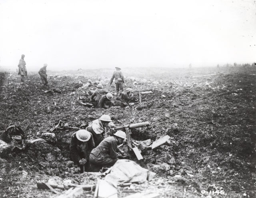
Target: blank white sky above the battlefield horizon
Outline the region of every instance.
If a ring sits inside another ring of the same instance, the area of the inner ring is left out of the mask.
[[[0,67],[215,66],[256,61],[254,0],[0,0]]]

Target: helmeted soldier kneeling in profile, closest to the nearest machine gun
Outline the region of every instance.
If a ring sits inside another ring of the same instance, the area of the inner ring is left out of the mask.
[[[118,160],[119,154],[117,152],[124,154],[124,151],[120,150],[117,146],[122,144],[125,139],[125,132],[120,130],[114,133],[114,136],[105,138],[96,148],[92,150],[89,157],[91,166],[113,166]]]

